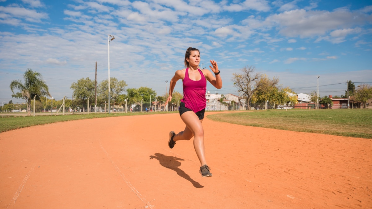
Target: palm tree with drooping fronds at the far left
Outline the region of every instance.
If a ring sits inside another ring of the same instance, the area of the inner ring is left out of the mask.
[[[12,90],[12,97],[17,99],[25,99],[27,102],[27,112],[31,115],[31,99],[36,96],[36,100],[40,101],[42,96],[50,96],[47,84],[42,80],[40,73],[32,71],[30,68],[23,74],[23,83],[21,80],[13,80],[10,83],[10,90]],[[18,89],[21,92],[14,94],[14,90]]]

